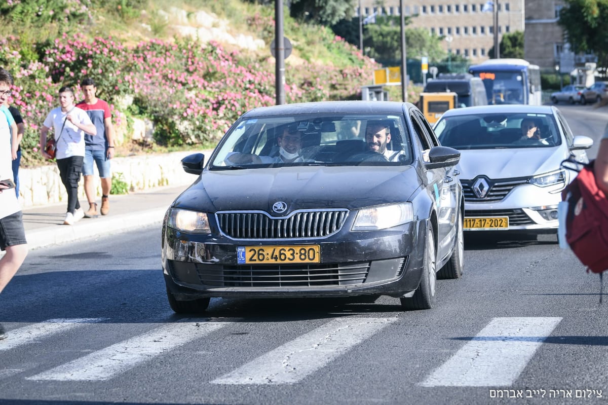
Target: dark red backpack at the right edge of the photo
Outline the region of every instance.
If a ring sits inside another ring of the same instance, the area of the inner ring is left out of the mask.
[[[568,202],[565,240],[587,272],[601,276],[608,270],[608,199],[595,183],[593,163],[562,190],[562,201]]]

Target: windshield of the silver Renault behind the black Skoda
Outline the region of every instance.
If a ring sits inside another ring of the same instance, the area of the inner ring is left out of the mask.
[[[561,144],[552,114],[443,116],[435,134],[441,145],[455,149],[550,148]]]

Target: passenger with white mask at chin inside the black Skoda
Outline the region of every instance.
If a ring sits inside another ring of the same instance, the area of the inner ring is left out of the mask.
[[[296,125],[286,125],[283,134],[277,137],[278,156],[258,156],[254,153],[229,153],[227,164],[264,164],[311,162],[302,156],[302,131]]]

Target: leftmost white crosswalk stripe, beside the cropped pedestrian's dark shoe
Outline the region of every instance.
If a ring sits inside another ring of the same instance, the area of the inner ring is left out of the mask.
[[[39,342],[52,334],[65,332],[83,324],[95,324],[107,318],[75,318],[75,319],[49,319],[44,322],[28,325],[26,327],[10,330],[7,338],[0,341],[0,351],[9,350],[33,342]]]

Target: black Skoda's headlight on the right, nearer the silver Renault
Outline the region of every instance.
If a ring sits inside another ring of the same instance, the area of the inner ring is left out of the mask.
[[[411,202],[376,206],[359,210],[354,219],[353,230],[378,230],[413,221]]]

